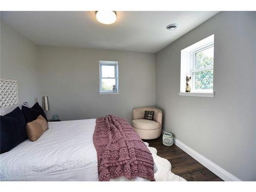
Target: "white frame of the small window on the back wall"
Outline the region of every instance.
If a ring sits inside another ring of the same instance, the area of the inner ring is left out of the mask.
[[[114,66],[115,67],[115,77],[102,77],[102,66]],[[102,79],[115,79],[116,89],[113,90],[102,90]],[[119,94],[119,86],[118,86],[118,61],[106,61],[99,60],[99,94]]]

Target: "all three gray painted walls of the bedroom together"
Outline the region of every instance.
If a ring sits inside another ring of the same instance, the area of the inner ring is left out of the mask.
[[[36,47],[1,22],[1,77],[18,80],[20,102],[49,95],[49,117],[62,120],[105,114],[131,120],[133,108],[157,104],[165,131],[234,176],[256,180],[255,19],[255,12],[221,12],[156,56]],[[180,51],[211,34],[216,96],[179,96]],[[120,95],[98,95],[98,60],[119,61]]]

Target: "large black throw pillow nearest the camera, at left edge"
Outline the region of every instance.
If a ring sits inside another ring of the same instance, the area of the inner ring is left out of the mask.
[[[26,121],[19,107],[4,116],[0,116],[0,126],[0,153],[8,152],[28,139]]]

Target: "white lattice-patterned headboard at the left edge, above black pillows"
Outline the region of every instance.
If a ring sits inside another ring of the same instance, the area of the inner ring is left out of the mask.
[[[0,78],[0,108],[18,104],[18,82],[13,79]]]

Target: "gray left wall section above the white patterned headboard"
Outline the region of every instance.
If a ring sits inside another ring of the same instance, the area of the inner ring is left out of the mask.
[[[40,99],[36,45],[1,22],[1,78],[18,81],[19,103]]]

